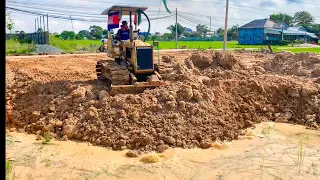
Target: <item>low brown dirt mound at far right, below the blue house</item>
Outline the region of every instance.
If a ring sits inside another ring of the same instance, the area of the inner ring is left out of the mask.
[[[262,65],[267,71],[306,77],[320,76],[320,56],[314,53],[278,53]]]

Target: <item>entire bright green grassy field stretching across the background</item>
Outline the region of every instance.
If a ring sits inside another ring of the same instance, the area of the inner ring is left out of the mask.
[[[87,52],[95,52],[98,47],[101,45],[100,40],[62,40],[55,38],[53,36],[50,37],[50,44],[63,50],[64,52],[75,52],[75,51],[87,51]],[[148,43],[152,44],[152,41],[148,41]],[[160,49],[175,49],[174,41],[160,41],[159,48]],[[223,42],[222,41],[180,41],[178,42],[178,47],[181,48],[185,46],[187,49],[222,49]],[[229,49],[243,49],[243,48],[255,48],[259,50],[261,47],[268,49],[266,45],[239,45],[237,41],[229,41],[227,42],[227,48]],[[289,47],[289,46],[272,46],[275,52],[280,52],[282,50],[291,51],[293,53],[300,52],[314,52],[320,54],[319,48],[299,48],[299,47]],[[7,40],[6,41],[6,54],[28,54],[35,50],[35,45],[32,44],[20,44],[18,41]]]

